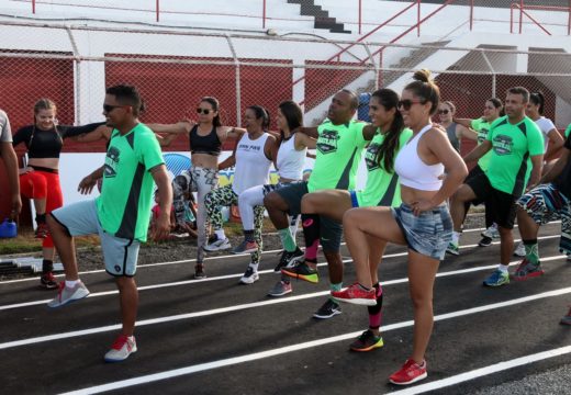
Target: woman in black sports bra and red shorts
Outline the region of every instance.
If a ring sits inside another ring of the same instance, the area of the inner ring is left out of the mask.
[[[34,105],[34,124],[21,127],[13,137],[13,146],[24,143],[27,148],[27,166],[20,169],[21,193],[34,201],[36,211],[36,237],[42,238],[43,264],[41,285],[57,287],[54,279],[54,242],[45,223],[45,216],[61,207],[64,196],[59,184],[59,154],[64,139],[98,128],[107,128],[104,122],[85,126],[57,125],[56,104],[49,99],[40,99]]]

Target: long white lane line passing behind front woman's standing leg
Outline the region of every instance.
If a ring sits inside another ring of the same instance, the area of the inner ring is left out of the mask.
[[[490,304],[490,305],[485,305],[485,306],[473,307],[473,308],[469,308],[469,309],[464,309],[464,311],[458,311],[458,312],[452,312],[452,313],[448,313],[448,314],[444,314],[444,315],[438,315],[438,316],[434,317],[434,320],[436,321],[436,320],[445,320],[445,319],[462,317],[462,316],[467,316],[470,314],[489,312],[489,311],[492,311],[495,308],[513,306],[515,304],[537,301],[537,300],[546,298],[546,297],[560,296],[560,295],[564,295],[568,293],[571,293],[571,287],[544,292],[544,293],[539,293],[539,294],[531,295],[531,296],[519,297],[519,298],[512,300],[508,302],[494,303],[494,304]],[[398,324],[393,324],[393,325],[387,325],[387,326],[382,327],[382,332],[387,332],[390,330],[395,330],[395,329],[400,329],[400,328],[404,328],[404,327],[410,327],[412,325],[413,325],[412,320],[398,323]],[[212,361],[212,362],[199,363],[195,365],[179,368],[179,369],[169,370],[169,371],[165,371],[165,372],[160,372],[160,373],[147,374],[147,375],[142,375],[142,376],[133,377],[133,379],[128,379],[128,380],[122,380],[122,381],[116,381],[116,382],[107,383],[107,384],[102,384],[102,385],[96,385],[92,387],[87,387],[87,388],[82,388],[82,390],[68,392],[66,394],[75,394],[75,395],[98,394],[98,393],[102,393],[105,391],[120,390],[120,388],[125,388],[125,387],[130,387],[133,385],[148,384],[152,382],[157,382],[157,381],[167,380],[167,379],[173,379],[173,377],[188,375],[188,374],[192,374],[192,373],[197,373],[197,372],[203,372],[203,371],[209,371],[209,370],[213,370],[213,369],[220,369],[220,368],[224,368],[224,366],[235,365],[235,364],[239,364],[239,363],[261,360],[265,358],[281,356],[281,354],[289,353],[289,352],[306,350],[310,348],[325,346],[325,345],[333,343],[336,341],[348,340],[348,339],[351,339],[351,338],[358,336],[359,334],[360,334],[360,331],[356,331],[356,332],[339,335],[339,336],[329,337],[329,338],[325,338],[325,339],[306,341],[306,342],[302,342],[302,343],[298,343],[298,345],[281,347],[281,348],[273,349],[273,350],[255,352],[255,353],[250,353],[250,354],[246,354],[246,356],[227,358],[227,359]],[[569,347],[569,348],[571,348],[571,347]],[[567,348],[564,348],[564,349],[567,349]],[[430,384],[430,383],[428,383],[428,384]],[[448,385],[451,385],[451,384],[448,384]],[[414,391],[419,386],[411,387],[410,390]],[[415,392],[410,392],[410,394],[415,394]]]

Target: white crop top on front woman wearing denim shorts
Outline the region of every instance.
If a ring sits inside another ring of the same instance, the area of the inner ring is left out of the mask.
[[[426,165],[418,156],[418,140],[433,125],[428,124],[406,144],[394,160],[394,171],[402,185],[421,191],[438,191],[443,187],[444,165]]]

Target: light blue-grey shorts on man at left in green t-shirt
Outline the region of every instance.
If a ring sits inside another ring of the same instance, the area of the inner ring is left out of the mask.
[[[137,270],[139,242],[108,234],[97,214],[94,200],[82,201],[54,210],[52,216],[71,236],[99,235],[105,271],[114,276],[133,276]]]

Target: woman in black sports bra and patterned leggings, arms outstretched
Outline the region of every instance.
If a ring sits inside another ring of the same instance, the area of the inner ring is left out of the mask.
[[[197,279],[205,278],[202,249],[208,238],[204,196],[219,184],[219,156],[222,144],[228,135],[245,132],[235,127],[222,126],[219,110],[220,103],[215,98],[204,97],[197,106],[198,123],[181,121],[170,125],[147,124],[155,133],[188,134],[189,136],[192,167],[182,171],[172,181],[172,205],[177,225],[184,227],[184,194],[198,192],[198,256],[194,271]]]

